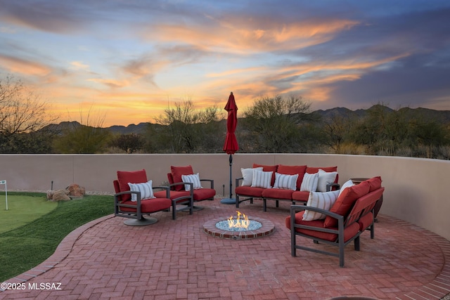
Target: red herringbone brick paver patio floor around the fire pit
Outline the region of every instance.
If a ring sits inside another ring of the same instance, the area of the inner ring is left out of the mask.
[[[155,214],[159,221],[151,226],[125,226],[113,216],[88,223],[44,263],[7,280],[25,289],[0,292],[0,299],[440,299],[450,293],[450,242],[410,223],[379,216],[375,239],[361,235],[360,252],[349,244],[340,268],[337,257],[290,255],[288,203],[267,212],[260,201],[241,204],[244,214],[275,224],[275,233],[254,240],[206,235],[203,223],[234,216],[236,208],[219,200],[201,205],[176,221],[169,212]],[[53,290],[38,289],[47,282]]]

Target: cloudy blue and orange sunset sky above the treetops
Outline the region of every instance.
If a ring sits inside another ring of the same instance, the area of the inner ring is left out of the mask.
[[[0,79],[60,121],[154,122],[184,100],[239,112],[295,95],[312,110],[450,110],[447,0],[0,0]]]

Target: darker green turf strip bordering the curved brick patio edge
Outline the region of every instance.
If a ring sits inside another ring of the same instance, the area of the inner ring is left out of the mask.
[[[49,214],[0,233],[0,282],[45,261],[75,228],[113,213],[113,196],[89,195],[80,200],[58,202]]]

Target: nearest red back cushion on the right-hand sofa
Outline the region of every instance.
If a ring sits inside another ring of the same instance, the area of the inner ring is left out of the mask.
[[[356,202],[356,200],[360,197],[366,195],[369,188],[370,186],[367,181],[363,181],[358,185],[345,188],[345,190],[342,190],[342,193],[339,195],[338,200],[336,200],[335,204],[333,204],[330,208],[330,211],[340,214],[341,216],[347,216],[352,209],[354,202]],[[334,219],[331,216],[326,216],[325,221],[323,222],[323,227],[338,227],[338,219]]]

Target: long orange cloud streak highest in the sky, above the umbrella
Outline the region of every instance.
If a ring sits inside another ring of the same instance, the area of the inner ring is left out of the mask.
[[[280,26],[278,20],[255,24],[229,16],[210,20],[211,24],[197,27],[154,25],[151,30],[145,28],[142,35],[146,39],[194,44],[204,51],[215,48],[231,53],[288,51],[329,41],[338,32],[359,24],[354,20],[307,20]]]

